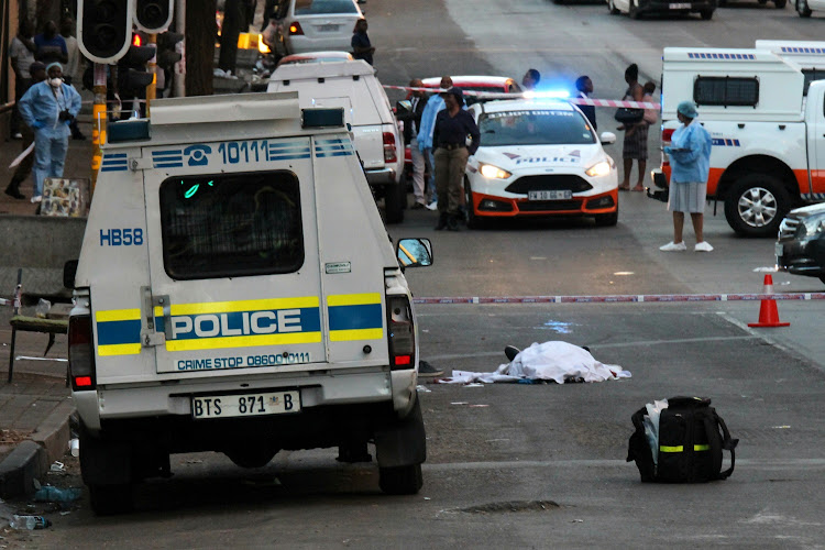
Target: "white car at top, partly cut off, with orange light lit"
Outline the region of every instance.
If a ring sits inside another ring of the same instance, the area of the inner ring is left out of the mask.
[[[355,22],[363,16],[355,0],[285,0],[274,18],[278,53],[349,52]]]

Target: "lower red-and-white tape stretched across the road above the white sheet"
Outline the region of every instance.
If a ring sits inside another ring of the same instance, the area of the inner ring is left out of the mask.
[[[459,296],[413,298],[414,304],[654,304],[684,301],[825,300],[825,293],[617,294],[602,296]]]

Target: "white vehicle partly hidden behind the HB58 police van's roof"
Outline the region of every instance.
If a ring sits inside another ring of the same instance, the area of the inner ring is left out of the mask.
[[[361,59],[278,67],[266,91],[292,90],[302,108],[344,109],[366,180],[376,198],[384,198],[386,221],[400,223],[407,200],[400,184],[404,141],[375,69]]]

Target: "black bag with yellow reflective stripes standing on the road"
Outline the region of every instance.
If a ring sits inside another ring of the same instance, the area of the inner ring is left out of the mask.
[[[642,482],[702,483],[724,480],[734,473],[734,449],[725,421],[711,407],[710,398],[673,397],[659,417],[659,459],[645,435],[646,407],[631,418],[636,431],[630,436],[627,462],[636,461]],[[730,468],[722,471],[722,450],[730,451]]]

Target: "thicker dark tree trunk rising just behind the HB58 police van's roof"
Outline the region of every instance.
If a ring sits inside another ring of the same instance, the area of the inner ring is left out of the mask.
[[[186,1],[186,95],[211,96],[216,0]],[[235,38],[238,40],[238,38]]]

